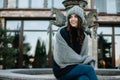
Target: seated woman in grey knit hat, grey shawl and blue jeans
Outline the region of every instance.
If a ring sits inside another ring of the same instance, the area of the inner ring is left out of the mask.
[[[53,73],[58,80],[98,80],[88,56],[88,38],[83,24],[83,9],[74,6],[67,12],[67,26],[56,34]]]

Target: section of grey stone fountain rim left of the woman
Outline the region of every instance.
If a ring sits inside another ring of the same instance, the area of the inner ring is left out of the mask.
[[[0,80],[56,80],[51,71],[51,69],[0,70]]]

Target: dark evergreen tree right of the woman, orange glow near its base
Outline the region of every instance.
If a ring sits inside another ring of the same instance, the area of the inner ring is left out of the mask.
[[[111,43],[108,43],[101,34],[98,38],[98,67],[112,68],[112,56],[110,55]]]

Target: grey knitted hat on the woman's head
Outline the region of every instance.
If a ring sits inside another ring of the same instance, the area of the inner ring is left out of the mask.
[[[72,8],[70,8],[67,11],[66,18],[68,19],[68,16],[71,15],[71,14],[77,14],[82,19],[83,24],[86,23],[86,19],[84,17],[84,11],[81,7],[76,5],[76,6],[73,6]]]

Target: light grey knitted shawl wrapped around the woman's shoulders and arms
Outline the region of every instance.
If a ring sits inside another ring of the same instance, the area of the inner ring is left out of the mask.
[[[56,63],[62,67],[74,64],[88,64],[94,61],[94,59],[88,55],[88,37],[86,34],[81,52],[77,54],[63,39],[60,30],[56,34],[53,58]]]

